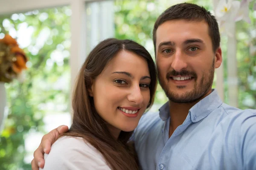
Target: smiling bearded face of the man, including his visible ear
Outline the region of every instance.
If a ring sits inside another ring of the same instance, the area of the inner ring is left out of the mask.
[[[188,103],[204,97],[221,61],[221,48],[213,52],[205,21],[170,20],[157,28],[158,79],[170,101]]]

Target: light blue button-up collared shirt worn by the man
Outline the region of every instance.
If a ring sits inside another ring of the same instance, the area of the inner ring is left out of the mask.
[[[142,170],[256,170],[256,110],[221,101],[194,105],[169,138],[169,104],[145,113],[134,133]]]

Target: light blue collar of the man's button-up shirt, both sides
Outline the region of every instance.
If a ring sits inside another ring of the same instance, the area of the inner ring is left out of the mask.
[[[218,92],[215,89],[212,89],[212,93],[206,96],[204,99],[201,99],[197,104],[195,104],[190,110],[190,118],[192,122],[198,122],[205,117],[207,117],[213,110],[218,108],[222,104]],[[169,118],[169,102],[166,102],[159,109],[160,118],[165,121]]]

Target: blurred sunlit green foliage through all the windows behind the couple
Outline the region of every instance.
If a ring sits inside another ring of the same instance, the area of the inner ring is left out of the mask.
[[[211,0],[187,2],[198,3],[212,10]],[[239,21],[236,24],[241,109],[256,109],[256,11],[253,11],[253,2],[250,6],[251,23]],[[139,42],[154,58],[154,22],[168,6],[175,3],[179,1],[116,0],[115,37]],[[6,85],[9,115],[0,136],[0,170],[31,169],[30,161],[34,150],[29,150],[29,146],[33,145],[29,136],[38,136],[40,141],[41,136],[49,131],[44,128],[47,114],[64,115],[63,113],[70,112],[70,14],[70,7],[65,6],[0,18],[0,38],[3,37],[3,30],[9,31],[9,34],[17,36],[18,42],[22,42],[20,44],[29,56],[29,69],[23,84],[14,81]],[[227,37],[221,38],[224,85],[227,91]],[[152,110],[157,111],[166,101],[167,98],[158,85]],[[228,103],[227,97],[225,102]]]

